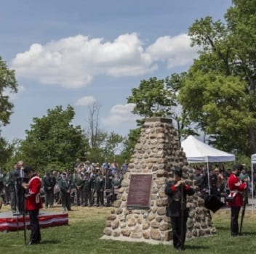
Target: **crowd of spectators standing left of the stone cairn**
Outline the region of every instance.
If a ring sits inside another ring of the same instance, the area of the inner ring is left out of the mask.
[[[118,189],[128,163],[121,167],[113,160],[107,159],[100,163],[77,162],[73,171],[47,171],[41,176],[41,197],[44,208],[52,208],[54,203],[62,205],[63,213],[76,206],[111,206],[116,199]],[[0,194],[4,205],[10,205],[12,213],[23,214],[24,192],[23,181],[26,181],[24,163],[15,163],[14,168],[7,173],[0,172]]]

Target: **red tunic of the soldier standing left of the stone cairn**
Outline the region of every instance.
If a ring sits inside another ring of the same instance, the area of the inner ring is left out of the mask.
[[[42,208],[41,197],[41,179],[39,176],[33,176],[28,182],[29,196],[26,198],[26,210],[37,210]]]

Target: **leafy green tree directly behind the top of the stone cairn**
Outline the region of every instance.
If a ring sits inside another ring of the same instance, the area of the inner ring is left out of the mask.
[[[177,100],[184,75],[185,73],[174,73],[171,77],[164,79],[150,78],[148,81],[141,81],[137,89],[132,89],[132,95],[127,98],[127,102],[135,103],[132,112],[144,118],[143,120],[137,120],[138,126],[143,124],[145,118],[160,116],[173,120],[179,139],[181,136],[196,134],[191,128],[188,113]],[[139,137],[138,134],[138,131],[130,133],[132,142],[127,142],[128,150],[130,145],[135,142],[135,136]]]

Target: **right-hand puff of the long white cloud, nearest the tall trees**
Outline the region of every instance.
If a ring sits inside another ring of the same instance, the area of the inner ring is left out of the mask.
[[[151,55],[154,61],[167,61],[167,67],[188,65],[196,57],[199,48],[191,48],[191,39],[186,34],[170,37],[163,36],[154,44],[148,46],[146,52]]]

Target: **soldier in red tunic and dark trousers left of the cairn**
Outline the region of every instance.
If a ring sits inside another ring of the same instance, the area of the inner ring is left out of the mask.
[[[25,208],[29,213],[31,225],[31,237],[28,245],[36,245],[41,241],[39,226],[39,209],[42,208],[40,197],[41,179],[30,166],[27,166],[24,171],[30,179],[28,184],[23,183],[23,188],[26,189]]]

